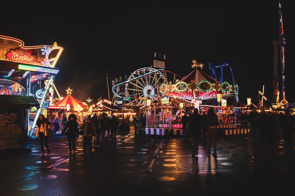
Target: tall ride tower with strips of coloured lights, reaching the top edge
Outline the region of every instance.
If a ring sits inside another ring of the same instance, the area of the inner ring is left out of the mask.
[[[285,47],[286,44],[284,38],[283,29],[283,17],[282,17],[282,6],[281,1],[278,0],[278,17],[279,17],[279,39],[273,41],[274,46],[274,66],[273,66],[273,105],[281,106],[287,102],[285,94]],[[278,52],[279,50],[279,52]],[[278,54],[280,54],[280,64],[281,64],[281,79],[282,79],[282,94],[283,99],[279,101],[279,91],[278,91]]]

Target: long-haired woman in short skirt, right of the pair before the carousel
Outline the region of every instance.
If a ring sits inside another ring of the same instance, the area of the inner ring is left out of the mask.
[[[215,114],[213,108],[208,109],[207,121],[206,121],[206,134],[207,134],[207,143],[208,143],[208,152],[207,155],[211,155],[211,137],[213,143],[214,153],[212,156],[217,156],[216,154],[216,135],[217,135],[217,126],[219,126],[218,116]]]

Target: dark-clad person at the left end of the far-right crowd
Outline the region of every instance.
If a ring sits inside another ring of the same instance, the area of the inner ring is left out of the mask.
[[[260,130],[260,119],[259,119],[259,114],[257,112],[256,107],[253,108],[253,111],[251,111],[247,117],[247,121],[250,123],[250,128],[252,132],[252,140],[253,140],[253,145],[252,148],[255,148],[256,146],[259,147],[259,130]]]

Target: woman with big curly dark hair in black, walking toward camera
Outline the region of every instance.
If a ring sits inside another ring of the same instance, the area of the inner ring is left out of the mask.
[[[77,123],[77,116],[75,114],[70,114],[68,117],[68,122],[65,124],[65,127],[63,129],[63,132],[61,135],[65,134],[65,131],[68,129],[66,132],[66,135],[68,137],[68,143],[69,143],[69,155],[74,155],[75,154],[75,141],[76,141],[76,135],[79,135],[79,124]],[[73,147],[73,151],[72,151]]]

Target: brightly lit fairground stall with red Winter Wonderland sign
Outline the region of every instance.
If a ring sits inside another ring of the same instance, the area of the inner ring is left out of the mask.
[[[2,95],[33,96],[40,107],[26,111],[25,135],[31,136],[44,104],[54,99],[55,68],[63,48],[24,46],[24,42],[0,35],[0,92]]]

